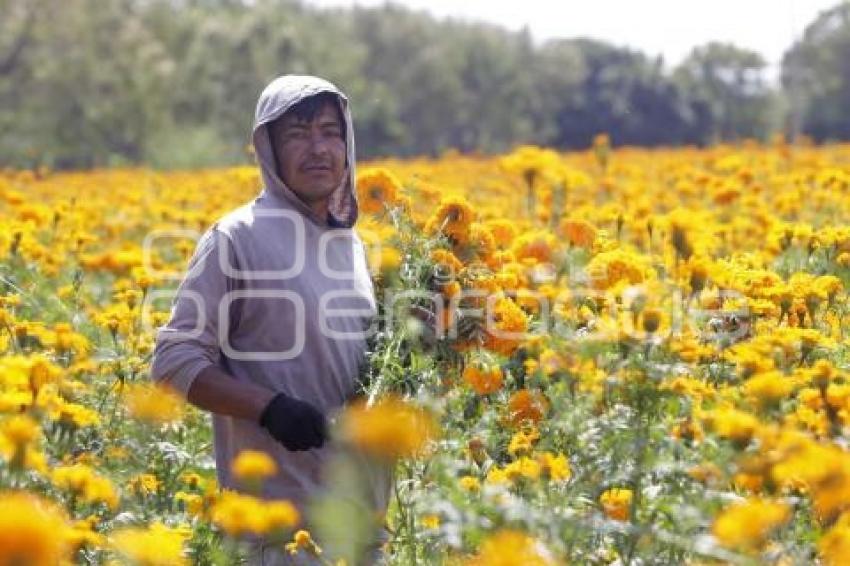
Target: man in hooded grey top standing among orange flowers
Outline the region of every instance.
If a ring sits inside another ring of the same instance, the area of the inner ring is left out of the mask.
[[[279,77],[260,95],[253,144],[264,188],[198,242],[157,334],[151,377],[212,412],[222,487],[239,488],[230,471],[239,452],[262,450],[278,467],[262,495],[292,501],[306,517],[334,454],[328,418],[356,393],[375,314],[352,230],[348,100],[325,80]],[[368,477],[380,515],[389,476]],[[287,560],[264,548],[257,556]]]

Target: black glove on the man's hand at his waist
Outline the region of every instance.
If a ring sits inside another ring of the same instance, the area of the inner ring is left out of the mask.
[[[269,401],[260,425],[287,450],[319,448],[328,436],[325,416],[313,405],[278,393]]]

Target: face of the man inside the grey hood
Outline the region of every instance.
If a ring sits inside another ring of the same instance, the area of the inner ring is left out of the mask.
[[[345,140],[332,103],[322,106],[312,122],[284,114],[270,133],[278,175],[303,201],[321,201],[342,182]]]

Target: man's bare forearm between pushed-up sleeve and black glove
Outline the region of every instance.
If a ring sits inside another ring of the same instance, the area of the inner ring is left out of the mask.
[[[188,401],[213,413],[256,423],[275,395],[260,385],[236,381],[218,366],[209,365],[192,381]]]

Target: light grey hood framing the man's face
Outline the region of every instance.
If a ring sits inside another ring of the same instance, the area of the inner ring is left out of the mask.
[[[332,92],[339,98],[340,108],[345,120],[345,146],[348,167],[342,183],[330,195],[328,212],[333,216],[332,224],[350,228],[357,221],[357,192],[355,191],[355,152],[354,127],[348,98],[334,84],[309,75],[284,75],[273,80],[263,89],[257,102],[254,115],[253,143],[254,153],[260,166],[263,179],[263,193],[298,210],[319,225],[325,225],[326,219],[319,218],[298,195],[284,184],[275,171],[275,159],[268,134],[268,124],[273,122],[301,100],[319,94]]]

